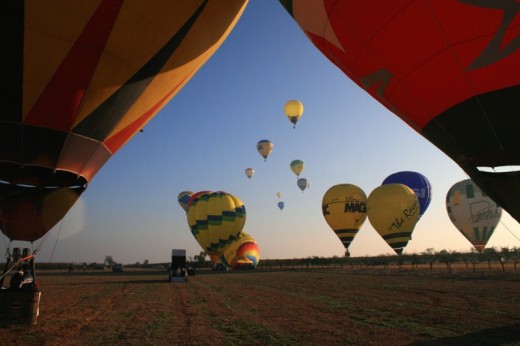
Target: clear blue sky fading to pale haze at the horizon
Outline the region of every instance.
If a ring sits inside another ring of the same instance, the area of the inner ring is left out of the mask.
[[[283,111],[292,99],[304,105],[295,129]],[[274,143],[266,161],[256,150],[262,139]],[[300,177],[311,181],[304,192],[289,168],[295,159],[305,163]],[[255,169],[251,179],[248,167]],[[250,1],[217,52],[35,242],[37,261],[102,263],[112,256],[157,263],[168,262],[172,249],[197,255],[202,248],[177,196],[201,190],[244,202],[243,230],[256,239],[260,261],[343,256],[322,215],[323,195],[350,183],[368,196],[399,171],[419,172],[432,185],[431,204],[404,253],[469,251],[445,206],[449,188],[468,179],[464,171],[326,59],[277,0]],[[519,238],[518,223],[504,212],[488,247],[520,246]],[[0,245],[7,248],[7,238]],[[394,254],[368,219],[349,250]]]

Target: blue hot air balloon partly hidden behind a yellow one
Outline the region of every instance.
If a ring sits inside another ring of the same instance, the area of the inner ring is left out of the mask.
[[[419,200],[419,215],[422,216],[432,200],[432,187],[429,180],[417,172],[403,171],[390,174],[383,184],[404,184],[415,192]]]

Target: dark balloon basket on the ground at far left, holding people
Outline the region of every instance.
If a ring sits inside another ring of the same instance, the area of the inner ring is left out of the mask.
[[[35,325],[40,314],[42,292],[35,290],[0,290],[0,327]]]

